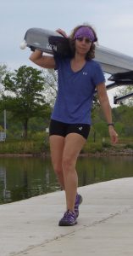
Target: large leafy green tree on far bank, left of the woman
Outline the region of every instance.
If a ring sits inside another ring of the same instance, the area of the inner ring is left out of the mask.
[[[0,108],[11,111],[13,118],[22,122],[24,138],[27,138],[30,118],[46,118],[50,114],[50,106],[43,95],[44,82],[41,71],[26,66],[19,67],[14,74],[6,74],[3,79]]]

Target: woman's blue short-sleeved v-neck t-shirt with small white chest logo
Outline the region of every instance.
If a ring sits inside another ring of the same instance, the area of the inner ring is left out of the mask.
[[[70,59],[55,58],[58,69],[58,96],[52,119],[67,124],[90,124],[91,105],[97,84],[105,81],[97,61],[86,61],[84,67],[74,72]]]

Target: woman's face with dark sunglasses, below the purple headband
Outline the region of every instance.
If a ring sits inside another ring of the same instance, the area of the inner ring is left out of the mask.
[[[80,55],[86,55],[91,48],[91,40],[89,38],[75,39],[75,52]]]

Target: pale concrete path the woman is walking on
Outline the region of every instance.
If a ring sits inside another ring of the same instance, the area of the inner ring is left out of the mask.
[[[59,227],[64,192],[0,206],[0,256],[133,256],[133,177],[79,188],[78,224]]]

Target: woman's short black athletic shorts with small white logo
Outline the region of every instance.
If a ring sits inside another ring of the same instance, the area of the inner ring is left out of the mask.
[[[49,136],[59,135],[66,137],[69,133],[78,133],[82,137],[86,138],[89,135],[91,125],[87,124],[66,124],[51,119],[49,126]]]

